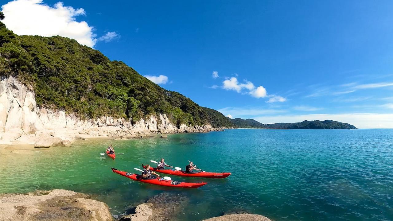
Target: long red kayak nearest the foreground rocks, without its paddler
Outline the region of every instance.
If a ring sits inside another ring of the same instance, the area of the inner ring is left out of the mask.
[[[154,177],[154,179],[142,179],[142,176],[139,174],[127,173],[125,171],[120,171],[116,168],[112,168],[112,171],[114,173],[118,173],[124,177],[128,177],[132,180],[145,182],[145,183],[149,183],[149,184],[154,184],[154,185],[158,185],[158,186],[169,186],[169,187],[177,187],[177,188],[198,188],[198,187],[208,184],[207,182],[180,182],[180,181],[174,181],[174,180],[165,180],[165,179],[156,178],[156,177]]]

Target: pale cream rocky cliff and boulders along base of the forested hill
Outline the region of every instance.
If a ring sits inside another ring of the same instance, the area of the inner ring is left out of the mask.
[[[0,78],[0,144],[35,144],[36,147],[70,146],[75,137],[131,137],[146,133],[215,131],[211,125],[175,127],[165,114],[132,124],[111,116],[81,120],[75,114],[39,108],[35,94],[14,77]],[[83,135],[83,136],[81,136]],[[51,136],[52,138],[49,138]],[[59,139],[55,139],[59,138]],[[64,141],[64,142],[63,142]]]

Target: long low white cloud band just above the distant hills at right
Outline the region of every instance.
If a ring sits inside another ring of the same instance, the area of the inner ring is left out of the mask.
[[[303,120],[335,120],[350,123],[357,128],[393,128],[393,114],[352,113],[352,114],[305,114],[259,116],[254,120],[261,123],[295,123]]]

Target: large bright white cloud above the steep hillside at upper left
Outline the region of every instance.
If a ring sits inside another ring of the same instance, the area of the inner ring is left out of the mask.
[[[83,8],[74,9],[64,6],[62,2],[51,7],[44,4],[43,0],[15,0],[3,5],[2,12],[6,17],[3,23],[17,35],[60,35],[89,47],[97,42],[93,27],[75,19],[79,15],[86,15]]]

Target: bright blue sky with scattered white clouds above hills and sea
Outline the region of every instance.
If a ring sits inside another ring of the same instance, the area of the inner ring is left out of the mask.
[[[57,2],[2,1],[4,23],[75,38],[232,118],[393,128],[391,1]]]

